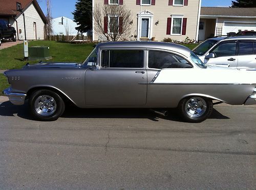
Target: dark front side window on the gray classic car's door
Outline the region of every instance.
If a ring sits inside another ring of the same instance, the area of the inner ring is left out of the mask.
[[[101,67],[143,68],[143,50],[102,50]]]

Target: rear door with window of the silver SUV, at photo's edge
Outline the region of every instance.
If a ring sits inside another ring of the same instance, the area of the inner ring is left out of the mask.
[[[238,69],[256,68],[256,40],[240,40]]]

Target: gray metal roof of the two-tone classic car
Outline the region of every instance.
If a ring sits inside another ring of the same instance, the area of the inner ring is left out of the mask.
[[[191,50],[183,45],[155,41],[118,41],[99,43],[96,48],[154,48],[179,52],[189,57]]]

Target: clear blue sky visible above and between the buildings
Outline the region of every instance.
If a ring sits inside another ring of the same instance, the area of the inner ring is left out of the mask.
[[[73,19],[72,12],[75,10],[76,0],[50,0],[52,17],[57,18],[60,16],[65,16]],[[203,7],[228,7],[231,5],[231,0],[201,0]],[[233,0],[234,1],[234,0]],[[37,0],[42,11],[46,11],[46,0]]]

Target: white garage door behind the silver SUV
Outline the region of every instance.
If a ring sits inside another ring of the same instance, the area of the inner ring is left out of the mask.
[[[243,23],[243,22],[224,22],[222,35],[229,32],[238,33],[239,31],[256,31],[256,23]]]

